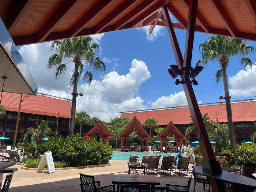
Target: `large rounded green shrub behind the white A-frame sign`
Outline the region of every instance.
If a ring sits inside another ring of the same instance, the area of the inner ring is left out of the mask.
[[[50,138],[40,143],[37,151],[39,154],[52,151],[55,161],[66,162],[69,167],[105,164],[112,158],[112,149],[108,143],[86,140],[78,133],[66,139]]]

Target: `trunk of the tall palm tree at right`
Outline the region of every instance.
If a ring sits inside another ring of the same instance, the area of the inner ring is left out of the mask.
[[[227,64],[222,64],[222,79],[224,85],[224,93],[225,93],[225,100],[226,100],[226,110],[227,110],[227,125],[229,126],[229,141],[230,141],[230,148],[237,153],[237,146],[236,146],[236,139],[235,139],[235,132],[233,126],[233,118],[232,118],[232,110],[229,98],[229,86],[227,84],[227,72],[226,66]]]

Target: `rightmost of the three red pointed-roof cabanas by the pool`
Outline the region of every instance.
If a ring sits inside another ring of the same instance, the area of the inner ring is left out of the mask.
[[[170,123],[166,126],[165,129],[163,129],[162,133],[157,137],[157,140],[161,141],[161,147],[160,150],[161,152],[163,151],[163,144],[162,141],[165,140],[165,149],[167,147],[167,136],[168,135],[174,135],[176,139],[176,150],[178,152],[178,140],[181,141],[181,144],[183,144],[183,140],[187,140],[184,135],[175,127],[175,125],[170,121]]]

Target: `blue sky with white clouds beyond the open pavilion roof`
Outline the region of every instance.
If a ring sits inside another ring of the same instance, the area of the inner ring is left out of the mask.
[[[185,30],[175,29],[182,54],[185,46]],[[210,35],[195,33],[192,66],[201,59],[199,44]],[[121,111],[186,105],[182,85],[175,85],[175,79],[168,74],[169,65],[176,64],[166,27],[156,27],[152,36],[148,27],[115,31],[94,35],[101,50],[98,56],[105,61],[105,75],[94,74],[90,87],[81,82],[78,92],[77,110],[84,110],[91,117],[105,121],[120,116]],[[256,42],[247,41],[256,47]],[[54,79],[54,70],[46,68],[50,42],[20,47],[20,54],[29,66],[39,86],[39,92],[71,98],[68,83],[72,64],[66,74]],[[256,95],[256,52],[249,55],[254,66],[252,70],[241,67],[240,60],[231,59],[227,69],[231,100],[254,98]],[[193,86],[199,103],[219,102],[223,95],[223,82],[215,83],[214,75],[219,64],[209,63],[196,77]],[[242,71],[241,71],[242,70]],[[232,77],[232,78],[231,78]]]

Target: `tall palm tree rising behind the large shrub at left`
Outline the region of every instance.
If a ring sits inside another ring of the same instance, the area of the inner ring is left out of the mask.
[[[50,56],[47,66],[48,69],[56,69],[56,78],[60,78],[61,75],[65,74],[67,63],[70,61],[74,63],[74,72],[69,82],[69,89],[73,88],[73,93],[71,93],[70,134],[74,134],[78,82],[82,80],[90,86],[93,74],[89,69],[105,73],[106,65],[99,60],[99,57],[95,56],[95,51],[99,50],[99,45],[93,42],[93,38],[89,36],[53,41],[50,50],[55,50],[56,53]],[[63,62],[65,63],[63,64]],[[83,96],[82,94],[79,95]]]

